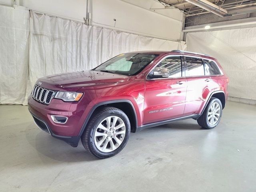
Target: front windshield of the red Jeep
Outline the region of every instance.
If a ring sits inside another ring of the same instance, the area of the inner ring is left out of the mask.
[[[157,56],[157,54],[148,53],[120,54],[96,67],[94,70],[129,76],[136,75]]]

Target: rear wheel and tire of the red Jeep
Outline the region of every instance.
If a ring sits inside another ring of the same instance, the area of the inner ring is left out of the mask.
[[[219,110],[217,112],[216,110],[213,110],[215,106],[219,106]],[[213,112],[215,111],[215,112],[212,113],[212,111]],[[219,114],[219,117],[218,117],[218,114]],[[218,98],[212,97],[210,98],[210,101],[208,102],[203,114],[197,119],[197,123],[203,128],[212,129],[219,124],[221,116],[222,116],[222,103]],[[218,117],[218,120],[216,120],[217,117]]]

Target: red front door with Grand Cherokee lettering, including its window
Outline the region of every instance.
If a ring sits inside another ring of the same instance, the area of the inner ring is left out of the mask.
[[[156,67],[167,68],[169,77],[146,80],[143,124],[183,116],[187,88],[183,64],[181,56],[168,56]]]

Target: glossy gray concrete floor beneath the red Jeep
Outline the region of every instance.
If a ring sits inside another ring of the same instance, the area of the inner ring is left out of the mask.
[[[256,106],[228,102],[220,124],[184,120],[131,134],[98,160],[37,128],[26,106],[0,106],[0,191],[256,191]]]

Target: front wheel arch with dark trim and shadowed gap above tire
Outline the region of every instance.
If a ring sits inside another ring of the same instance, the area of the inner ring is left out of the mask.
[[[84,124],[79,132],[78,136],[81,136],[90,120],[93,114],[98,112],[103,107],[116,107],[122,111],[128,116],[131,124],[131,132],[136,132],[136,129],[138,127],[138,120],[137,120],[137,114],[136,110],[134,108],[134,105],[130,100],[127,99],[120,99],[120,100],[110,100],[110,101],[104,101],[100,102],[92,107],[90,110],[88,116],[86,117],[86,120],[84,121]]]

